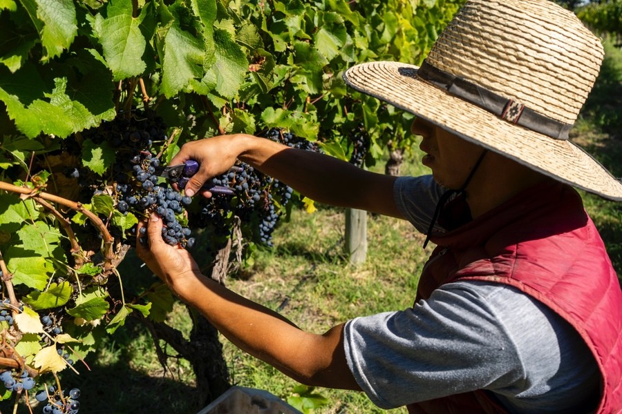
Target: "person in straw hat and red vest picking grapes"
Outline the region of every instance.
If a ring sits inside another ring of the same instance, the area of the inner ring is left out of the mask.
[[[361,63],[356,90],[416,115],[423,177],[375,174],[251,135],[185,144],[186,193],[236,159],[311,199],[408,219],[435,248],[411,308],[305,332],[200,273],[152,215],[138,255],[236,346],[314,386],[411,413],[619,413],[622,293],[581,188],[622,184],[568,139],[603,59],[546,0],[468,1],[420,67]]]

